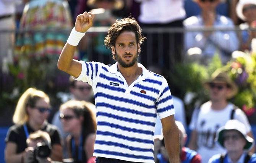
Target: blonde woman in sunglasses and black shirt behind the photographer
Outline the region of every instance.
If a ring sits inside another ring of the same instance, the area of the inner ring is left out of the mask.
[[[50,98],[41,90],[27,89],[19,98],[13,115],[15,125],[11,126],[6,138],[6,163],[23,163],[26,160],[29,134],[38,130],[49,133],[52,142],[50,158],[62,161],[62,145],[57,127],[47,123],[50,114]]]

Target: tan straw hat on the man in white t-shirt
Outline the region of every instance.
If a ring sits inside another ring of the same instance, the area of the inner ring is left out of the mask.
[[[215,71],[211,78],[208,79],[206,82],[204,82],[204,87],[206,89],[210,89],[210,83],[225,83],[228,85],[228,87],[230,88],[230,92],[227,95],[227,98],[231,98],[234,95],[237,94],[238,88],[237,85],[235,84],[235,82],[233,82],[230,77],[228,77],[228,75],[224,72],[221,71]]]

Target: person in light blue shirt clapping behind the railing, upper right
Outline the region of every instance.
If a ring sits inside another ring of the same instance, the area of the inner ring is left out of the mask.
[[[230,18],[218,15],[215,11],[221,0],[194,0],[194,2],[202,11],[201,15],[185,19],[183,24],[187,30],[195,27],[234,27]],[[230,60],[231,53],[239,48],[235,31],[188,31],[185,33],[184,44],[188,55],[198,53],[191,48],[199,48],[199,56],[204,64],[209,63],[215,54],[218,54],[222,62],[226,63]]]

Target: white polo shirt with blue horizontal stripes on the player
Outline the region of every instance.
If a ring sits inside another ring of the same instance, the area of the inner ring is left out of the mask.
[[[156,116],[175,114],[165,78],[138,63],[142,74],[128,86],[117,63],[80,63],[76,80],[92,86],[97,110],[94,156],[154,163]]]

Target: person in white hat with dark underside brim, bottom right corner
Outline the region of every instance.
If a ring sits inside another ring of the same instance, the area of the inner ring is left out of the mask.
[[[254,140],[246,134],[246,127],[236,119],[227,121],[215,139],[227,152],[210,158],[209,163],[256,163],[256,154],[248,152]]]

